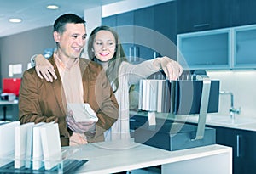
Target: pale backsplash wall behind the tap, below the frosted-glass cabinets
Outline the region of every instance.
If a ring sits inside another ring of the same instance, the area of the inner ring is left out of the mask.
[[[256,119],[256,70],[207,71],[211,79],[220,80],[220,90],[234,94],[234,107],[241,107],[242,117]],[[217,115],[230,115],[230,95],[219,96]]]

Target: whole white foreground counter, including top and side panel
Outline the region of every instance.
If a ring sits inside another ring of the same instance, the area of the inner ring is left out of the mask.
[[[70,147],[79,149],[71,158],[89,160],[75,173],[115,173],[150,166],[161,166],[161,173],[231,174],[232,149],[213,144],[209,146],[167,151],[140,143],[133,139],[90,143]]]

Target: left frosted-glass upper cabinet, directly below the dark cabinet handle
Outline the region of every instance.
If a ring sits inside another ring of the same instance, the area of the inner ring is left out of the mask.
[[[184,70],[230,69],[231,41],[230,29],[179,34],[177,60]]]

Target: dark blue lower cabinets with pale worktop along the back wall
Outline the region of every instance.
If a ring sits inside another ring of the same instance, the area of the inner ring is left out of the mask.
[[[249,115],[236,115],[235,120],[230,115],[208,114],[206,126],[216,130],[216,143],[232,148],[233,174],[254,174],[256,170],[256,119]],[[199,115],[172,115],[156,113],[156,122],[171,121],[183,124],[198,124]],[[148,124],[147,112],[131,112],[131,132],[138,126]]]

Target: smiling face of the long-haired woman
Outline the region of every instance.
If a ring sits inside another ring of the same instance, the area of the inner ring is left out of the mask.
[[[107,62],[113,58],[115,48],[116,42],[112,32],[99,31],[96,33],[96,37],[93,42],[93,50],[96,59],[99,59],[102,62]]]

